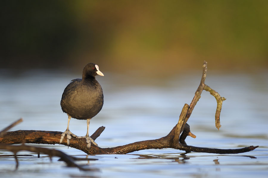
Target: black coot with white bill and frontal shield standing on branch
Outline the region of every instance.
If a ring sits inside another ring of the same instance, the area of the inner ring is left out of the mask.
[[[76,138],[86,138],[88,148],[90,148],[91,142],[97,146],[96,142],[89,137],[88,129],[85,136],[79,137],[69,131],[71,117],[79,120],[87,120],[87,126],[89,128],[91,118],[96,116],[102,109],[102,87],[96,80],[96,75],[104,76],[102,72],[99,71],[98,65],[88,63],[83,69],[82,79],[72,80],[64,89],[60,106],[62,111],[68,115],[68,125],[66,131],[63,132],[60,137],[60,143],[66,135],[68,146],[72,136]]]

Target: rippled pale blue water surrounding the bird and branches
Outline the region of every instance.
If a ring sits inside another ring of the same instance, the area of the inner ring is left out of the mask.
[[[67,115],[61,111],[62,92],[71,79],[80,74],[66,71],[27,71],[14,74],[1,71],[1,128],[23,117],[11,130],[65,131]],[[100,147],[115,147],[136,141],[166,136],[177,123],[185,103],[190,104],[201,72],[168,78],[135,77],[132,74],[105,73],[97,76],[105,103],[91,120],[90,134],[99,126],[105,131],[96,142]],[[213,148],[240,148],[259,145],[251,152],[218,155],[174,149],[141,150],[127,155],[88,155],[63,145],[38,145],[59,149],[79,158],[91,171],[68,168],[57,157],[19,152],[15,170],[13,157],[0,157],[1,177],[266,177],[268,175],[268,72],[222,74],[209,72],[206,84],[227,98],[221,113],[222,127],[214,123],[216,101],[203,91],[188,120],[197,138],[187,137],[188,145]],[[86,121],[71,119],[70,130],[79,136],[86,133]],[[1,151],[1,155],[12,154]],[[249,157],[250,156],[250,157]]]

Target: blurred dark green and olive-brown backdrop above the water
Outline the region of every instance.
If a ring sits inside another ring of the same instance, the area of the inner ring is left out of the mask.
[[[1,1],[2,69],[268,68],[268,1]],[[167,71],[167,69],[169,69]]]

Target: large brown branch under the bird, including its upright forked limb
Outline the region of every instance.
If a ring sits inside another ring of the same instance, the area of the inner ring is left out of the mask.
[[[179,150],[185,150],[186,152],[194,151],[194,152],[208,152],[208,153],[218,153],[218,154],[234,154],[234,153],[248,152],[257,148],[258,146],[255,146],[255,147],[250,146],[250,147],[244,147],[240,149],[214,149],[214,148],[203,148],[203,147],[194,147],[194,146],[186,145],[186,142],[185,142],[186,136],[191,135],[190,126],[186,123],[189,117],[191,116],[194,106],[197,104],[198,100],[200,99],[202,90],[205,89],[205,90],[210,91],[213,94],[213,96],[215,96],[215,98],[217,95],[214,92],[214,90],[212,90],[210,87],[205,85],[206,75],[207,75],[207,62],[204,61],[201,82],[194,94],[194,98],[191,101],[190,105],[188,104],[184,105],[178,124],[174,126],[174,128],[169,132],[167,136],[164,136],[162,138],[155,139],[155,140],[145,140],[141,142],[134,142],[134,143],[130,143],[130,144],[126,144],[126,145],[118,146],[118,147],[112,147],[112,148],[101,148],[95,145],[91,145],[89,150],[86,147],[87,145],[86,139],[73,138],[71,139],[69,146],[82,150],[83,152],[87,154],[126,154],[126,153],[130,153],[133,151],[138,151],[138,150],[162,149],[162,148],[174,148],[174,149],[179,149]],[[216,122],[218,123],[219,123],[219,114],[220,114],[221,107],[222,107],[222,101],[220,100],[223,101],[225,100],[225,98],[220,97],[219,99],[220,104],[218,104],[219,108],[217,106],[215,117],[217,116],[218,121]],[[218,99],[217,99],[217,103],[218,103]],[[98,130],[91,136],[91,138],[95,140],[102,133],[104,129],[105,127],[103,126],[98,128]],[[182,134],[180,136],[181,132]],[[19,131],[7,132],[4,136],[0,137],[0,142],[4,144],[18,144],[18,143],[58,144],[60,141],[61,134],[62,132],[57,132],[57,131],[19,130]],[[195,138],[193,134],[191,136]],[[67,145],[66,139],[64,139],[61,144]]]

